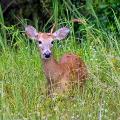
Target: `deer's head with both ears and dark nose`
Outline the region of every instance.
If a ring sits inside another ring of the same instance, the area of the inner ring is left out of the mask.
[[[55,40],[63,40],[69,33],[69,28],[63,27],[54,33],[37,32],[33,26],[25,27],[26,34],[37,41],[43,59],[49,59],[52,55],[51,48]]]

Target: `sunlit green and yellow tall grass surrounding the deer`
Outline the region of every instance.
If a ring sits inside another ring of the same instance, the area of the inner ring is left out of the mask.
[[[74,16],[83,18],[77,8],[68,3],[64,2],[64,5],[61,5],[66,9],[66,13],[69,15],[67,12],[69,9],[73,14],[71,18]],[[55,10],[58,10],[60,4],[55,5],[56,2],[53,3],[53,6]],[[72,7],[74,11],[72,11]],[[63,97],[47,98],[45,95],[46,79],[35,42],[30,42],[23,30],[16,26],[5,26],[1,11],[0,17],[3,21],[0,24],[3,26],[0,34],[0,46],[3,46],[0,52],[1,119],[120,119],[120,43],[118,34],[96,27],[90,20],[83,18],[87,22],[78,26],[80,32],[83,33],[80,44],[76,41],[70,16],[64,15],[64,13],[63,16],[59,16],[56,11],[53,13],[50,21],[57,21],[58,26],[68,25],[71,28],[71,34],[64,42],[55,43],[53,48],[55,57],[59,59],[66,52],[74,52],[79,55],[85,61],[89,71],[85,87],[83,91],[75,88],[72,97],[68,93]],[[120,23],[115,14],[114,18],[114,23],[119,29]],[[6,40],[9,41],[9,45],[3,43]]]

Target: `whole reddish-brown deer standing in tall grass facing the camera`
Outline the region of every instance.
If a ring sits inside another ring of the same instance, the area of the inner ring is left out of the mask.
[[[72,82],[83,85],[87,76],[84,62],[75,54],[65,54],[57,62],[51,52],[53,41],[63,40],[69,33],[67,27],[60,28],[54,33],[41,33],[32,26],[25,28],[26,34],[35,39],[41,53],[49,93],[67,91]]]

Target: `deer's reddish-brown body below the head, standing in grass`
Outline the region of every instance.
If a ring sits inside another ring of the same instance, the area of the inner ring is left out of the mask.
[[[83,85],[87,77],[84,62],[74,54],[65,54],[58,63],[54,58],[43,60],[49,93],[61,93],[71,87],[71,83]]]

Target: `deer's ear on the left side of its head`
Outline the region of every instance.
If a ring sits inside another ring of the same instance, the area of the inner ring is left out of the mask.
[[[37,38],[38,32],[33,26],[30,26],[30,25],[26,26],[25,32],[31,39]]]

